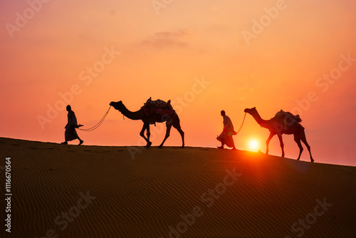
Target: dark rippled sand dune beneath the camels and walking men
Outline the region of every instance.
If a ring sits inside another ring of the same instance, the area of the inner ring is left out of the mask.
[[[356,236],[356,167],[8,138],[0,151],[1,207],[6,157],[12,192],[1,237]]]

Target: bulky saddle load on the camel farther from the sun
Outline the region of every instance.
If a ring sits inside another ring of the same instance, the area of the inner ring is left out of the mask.
[[[151,100],[151,98],[148,98],[145,105],[142,106],[142,109],[145,115],[152,117],[162,117],[175,113],[171,105],[171,100],[168,100],[166,103],[164,100]]]

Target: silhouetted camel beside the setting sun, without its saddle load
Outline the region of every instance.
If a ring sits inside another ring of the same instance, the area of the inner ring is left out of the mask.
[[[310,154],[310,162],[314,162],[310,152],[310,146],[308,145],[307,139],[305,138],[305,132],[302,125],[300,125],[299,123],[295,123],[293,126],[288,126],[288,123],[283,123],[281,118],[278,118],[277,116],[271,118],[270,120],[263,120],[261,116],[258,114],[256,108],[250,108],[250,109],[246,108],[244,112],[252,115],[253,118],[256,120],[256,122],[259,125],[261,125],[261,127],[267,128],[270,131],[270,135],[266,140],[266,154],[268,154],[268,144],[270,140],[273,138],[274,135],[278,135],[278,139],[282,148],[282,157],[284,157],[284,144],[282,140],[282,135],[283,134],[294,135],[294,141],[295,143],[297,143],[299,147],[299,156],[297,160],[300,159],[300,155],[303,152],[303,146],[300,143],[301,140],[308,148]]]

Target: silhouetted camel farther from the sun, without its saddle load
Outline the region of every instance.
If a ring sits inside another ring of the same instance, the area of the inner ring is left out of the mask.
[[[150,142],[150,124],[164,123],[164,122],[166,122],[167,130],[166,130],[166,135],[164,137],[164,140],[162,141],[161,145],[159,145],[159,148],[162,148],[164,142],[169,137],[169,133],[171,131],[172,125],[174,128],[178,130],[179,134],[182,136],[182,148],[184,148],[184,132],[180,127],[180,121],[177,113],[174,112],[172,115],[153,117],[153,116],[145,115],[144,110],[142,108],[140,110],[137,110],[136,112],[131,112],[125,107],[122,101],[111,102],[110,105],[116,110],[119,110],[120,113],[122,113],[122,115],[125,115],[125,117],[130,118],[131,120],[142,120],[143,127],[140,132],[140,135],[147,142],[145,148],[149,148],[152,145],[152,143]],[[147,137],[145,137],[145,130],[147,130]]]

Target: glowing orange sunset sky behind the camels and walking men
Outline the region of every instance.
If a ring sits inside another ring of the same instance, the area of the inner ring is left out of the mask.
[[[1,137],[61,143],[68,103],[88,128],[112,100],[139,110],[152,97],[172,100],[187,146],[219,145],[221,110],[237,130],[245,108],[263,119],[283,109],[303,119],[315,162],[356,165],[355,0],[0,6]],[[78,134],[84,145],[143,145],[141,128],[112,108],[100,128]],[[151,130],[157,146],[164,127]],[[268,134],[246,115],[236,148],[257,140],[265,152]],[[286,157],[298,157],[293,135],[283,139]],[[181,145],[177,130],[165,145]],[[277,137],[270,153],[281,155]]]

